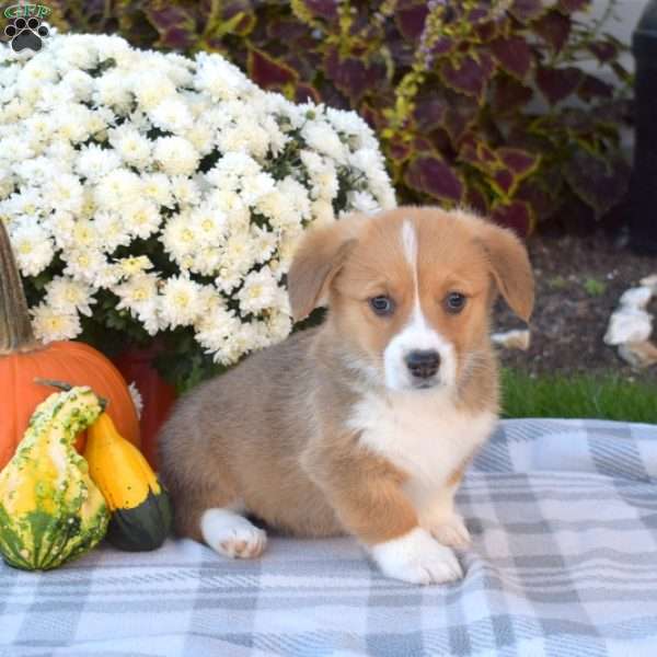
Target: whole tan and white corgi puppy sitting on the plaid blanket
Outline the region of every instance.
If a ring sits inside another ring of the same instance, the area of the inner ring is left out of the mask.
[[[309,231],[288,274],[293,319],[324,323],[180,400],[160,438],[175,529],[230,557],[265,532],[348,533],[404,581],[462,576],[453,497],[498,413],[491,307],[528,321],[533,277],[508,230],[401,207]]]

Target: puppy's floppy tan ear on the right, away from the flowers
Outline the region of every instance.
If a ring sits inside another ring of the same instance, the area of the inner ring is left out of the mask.
[[[499,293],[519,318],[529,322],[534,280],[525,244],[512,231],[493,223],[484,224],[480,240]]]

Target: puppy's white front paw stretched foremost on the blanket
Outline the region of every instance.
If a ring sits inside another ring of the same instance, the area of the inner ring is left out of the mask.
[[[378,543],[370,550],[383,574],[394,579],[411,584],[440,584],[463,577],[454,553],[437,543],[420,527],[399,539]]]

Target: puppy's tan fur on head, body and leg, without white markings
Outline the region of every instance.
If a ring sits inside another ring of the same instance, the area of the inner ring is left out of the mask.
[[[522,318],[533,280],[521,243],[464,212],[399,208],[353,217],[311,232],[288,276],[297,320],[327,301],[324,324],[256,353],[176,405],[159,438],[161,473],[180,534],[201,540],[199,518],[234,507],[299,535],[349,532],[373,545],[417,527],[404,492],[408,473],[360,442],[349,417],[368,391],[384,395],[382,353],[408,320],[413,268],[399,240],[404,221],[417,234],[422,310],[454,345],[453,404],[465,414],[497,412],[497,364],[488,339],[499,291]],[[469,296],[461,314],[445,311],[450,290]],[[391,318],[370,297],[397,300]],[[457,485],[465,464],[452,470]]]

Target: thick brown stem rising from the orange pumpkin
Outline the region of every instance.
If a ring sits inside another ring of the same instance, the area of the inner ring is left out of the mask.
[[[0,219],[0,356],[32,351],[42,346],[32,331],[21,276]]]

